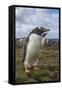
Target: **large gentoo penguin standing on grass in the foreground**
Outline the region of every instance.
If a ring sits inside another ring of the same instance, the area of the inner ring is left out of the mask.
[[[26,39],[23,53],[23,63],[27,74],[31,72],[32,66],[39,58],[41,40],[46,35],[44,33],[47,31],[49,31],[49,29],[36,27],[30,32]]]

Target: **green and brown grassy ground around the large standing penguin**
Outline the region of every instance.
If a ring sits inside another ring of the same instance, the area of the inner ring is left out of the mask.
[[[22,48],[16,48],[16,83],[46,82],[59,80],[59,50],[47,47],[39,56],[39,69],[32,71],[29,78],[24,72]]]

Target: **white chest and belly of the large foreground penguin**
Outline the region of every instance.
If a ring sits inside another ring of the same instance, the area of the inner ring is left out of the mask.
[[[30,35],[27,45],[27,52],[25,58],[25,64],[32,65],[38,59],[40,53],[41,36],[32,34]]]

